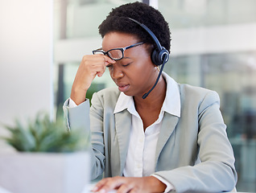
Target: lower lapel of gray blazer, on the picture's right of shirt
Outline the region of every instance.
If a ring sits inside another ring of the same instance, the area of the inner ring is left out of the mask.
[[[179,117],[176,117],[169,113],[164,113],[163,123],[160,129],[159,139],[155,150],[155,168],[159,159],[159,155],[163,150],[163,146],[165,146],[165,144],[167,143],[167,140],[170,138],[171,133],[174,131],[178,121]]]

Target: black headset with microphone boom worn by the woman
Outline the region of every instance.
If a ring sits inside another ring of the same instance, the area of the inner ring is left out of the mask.
[[[159,71],[159,76],[157,77],[157,79],[155,81],[155,84],[148,92],[143,94],[142,99],[145,99],[149,95],[149,93],[151,93],[151,91],[155,88],[156,84],[158,83],[159,78],[163,72],[164,64],[166,64],[167,61],[169,60],[170,54],[169,54],[169,51],[167,51],[167,49],[165,49],[165,47],[161,46],[161,44],[159,43],[159,39],[156,38],[155,34],[147,26],[145,26],[143,23],[139,23],[134,18],[129,18],[129,19],[131,21],[133,21],[134,23],[137,23],[140,27],[142,27],[145,31],[147,31],[147,33],[149,35],[151,35],[151,38],[154,40],[154,42],[157,46],[154,49],[154,51],[152,51],[152,53],[151,53],[151,60],[152,60],[153,64],[155,64],[156,66],[162,65],[162,67]]]

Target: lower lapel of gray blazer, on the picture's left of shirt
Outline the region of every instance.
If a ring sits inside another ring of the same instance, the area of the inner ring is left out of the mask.
[[[114,162],[120,163],[120,168],[117,168],[119,169],[119,171],[117,170],[117,172],[119,172],[117,175],[122,175],[130,142],[131,114],[127,109],[125,109],[122,112],[115,114],[115,120],[118,136],[119,158],[117,156],[118,160],[115,160]]]

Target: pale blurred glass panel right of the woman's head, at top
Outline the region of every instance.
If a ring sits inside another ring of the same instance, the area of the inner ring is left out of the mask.
[[[159,0],[172,28],[210,27],[256,22],[254,0]]]

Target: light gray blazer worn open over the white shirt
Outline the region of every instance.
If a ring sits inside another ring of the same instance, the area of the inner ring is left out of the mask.
[[[220,112],[217,92],[178,84],[180,118],[164,113],[155,152],[155,175],[177,192],[231,191],[237,182],[232,146]],[[64,104],[69,128],[91,130],[92,179],[122,175],[128,149],[131,114],[114,114],[120,92],[105,88],[76,108]]]

